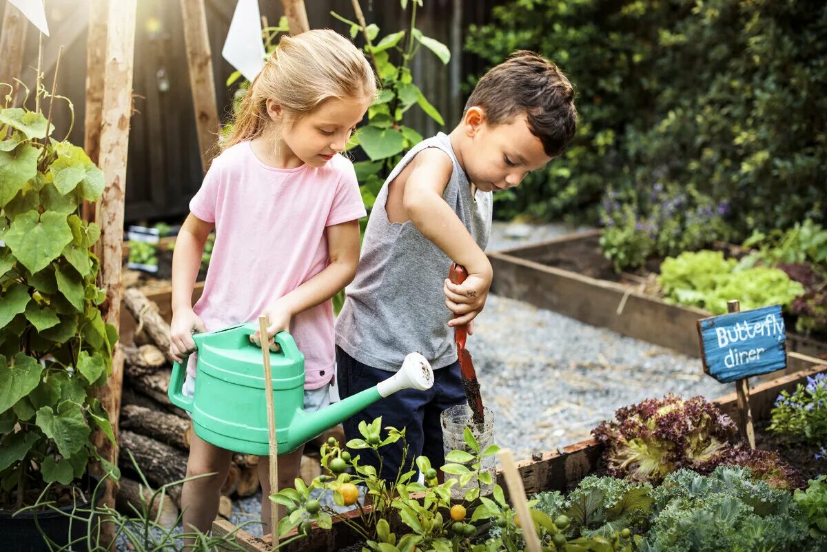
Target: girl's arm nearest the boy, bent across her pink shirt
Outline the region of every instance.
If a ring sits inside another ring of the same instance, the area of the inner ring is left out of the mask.
[[[359,264],[359,221],[327,226],[325,231],[330,264],[265,309],[262,314],[267,315],[270,321],[270,326],[267,327],[269,339],[280,331],[289,330],[293,316],[327,301],[356,276],[356,266]],[[258,332],[253,339],[259,340]]]

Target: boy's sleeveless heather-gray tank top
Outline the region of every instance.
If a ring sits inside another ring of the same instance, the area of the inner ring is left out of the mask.
[[[452,260],[425,238],[414,223],[390,223],[385,211],[388,184],[425,148],[438,148],[453,161],[442,199],[485,249],[491,231],[491,194],[476,192],[457,161],[449,136],[440,132],[414,146],[382,186],[361,246],[356,278],[336,322],[336,344],[373,368],[396,371],[405,355],[417,351],[434,369],[457,360],[452,313],[445,306],[442,281]]]

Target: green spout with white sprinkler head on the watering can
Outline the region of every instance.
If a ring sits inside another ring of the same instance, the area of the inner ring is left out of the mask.
[[[402,368],[385,381],[382,381],[370,389],[356,393],[351,397],[334,402],[329,407],[324,407],[316,412],[304,412],[302,421],[291,427],[291,441],[305,443],[316,435],[322,434],[327,429],[342,423],[346,418],[353,416],[356,412],[373,404],[382,397],[396,393],[402,389],[418,389],[425,391],[433,385],[433,370],[428,360],[419,353],[410,353],[405,357]]]

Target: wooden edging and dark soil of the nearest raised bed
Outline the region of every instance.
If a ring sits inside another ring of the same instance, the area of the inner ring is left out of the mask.
[[[753,419],[758,423],[766,421],[770,415],[773,402],[779,393],[785,390],[794,390],[796,384],[805,382],[807,376],[812,376],[825,369],[827,369],[827,366],[810,366],[808,369],[773,378],[755,386],[750,395]],[[720,397],[714,403],[729,416],[737,416],[735,393]],[[574,488],[586,475],[595,473],[600,469],[602,452],[601,445],[597,441],[589,439],[556,451],[538,453],[532,459],[520,462],[517,467],[526,494],[530,496],[534,493],[550,490],[565,492]],[[498,473],[498,480],[501,477],[502,474]],[[354,515],[356,515],[356,512],[354,512]],[[237,527],[229,521],[213,523],[213,532],[218,534],[227,534],[234,530],[237,530]],[[341,522],[334,521],[331,530],[314,527],[306,539],[295,540],[280,548],[280,550],[289,552],[308,550],[333,552],[354,545],[357,541],[357,535],[350,528]],[[236,542],[248,552],[269,552],[272,546],[270,535],[265,535],[260,539],[243,530],[237,530]]]

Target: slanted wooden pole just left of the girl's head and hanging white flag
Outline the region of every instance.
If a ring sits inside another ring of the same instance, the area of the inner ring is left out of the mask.
[[[198,149],[201,150],[201,168],[206,173],[210,164],[210,151],[213,150],[220,129],[218,127],[218,104],[215,100],[213,54],[209,47],[207,12],[204,9],[203,0],[181,0],[181,17],[184,19],[189,88],[193,92]]]

